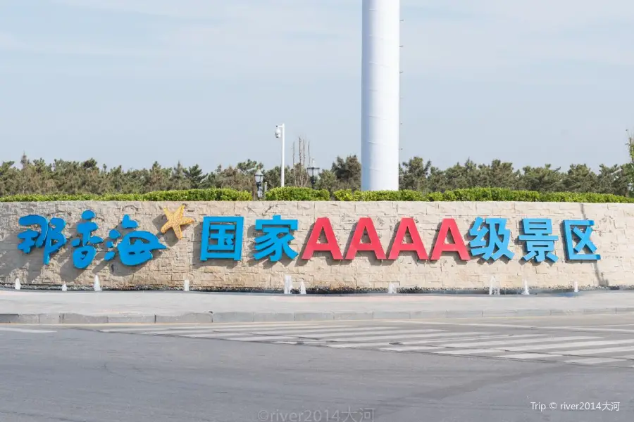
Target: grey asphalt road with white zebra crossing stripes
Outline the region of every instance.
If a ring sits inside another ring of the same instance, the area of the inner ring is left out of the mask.
[[[634,417],[627,316],[0,326],[0,355],[0,422]]]

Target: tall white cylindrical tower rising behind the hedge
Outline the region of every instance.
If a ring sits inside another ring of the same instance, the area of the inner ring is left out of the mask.
[[[363,191],[397,191],[399,188],[400,26],[400,0],[363,0]]]

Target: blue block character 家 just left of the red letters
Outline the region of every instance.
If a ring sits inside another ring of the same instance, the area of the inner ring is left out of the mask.
[[[255,249],[258,252],[253,257],[256,260],[271,256],[271,262],[278,262],[282,258],[282,252],[291,260],[299,255],[289,246],[290,241],[294,239],[290,231],[297,230],[296,219],[284,220],[279,215],[274,215],[270,220],[256,219],[256,230],[264,232],[255,239]]]

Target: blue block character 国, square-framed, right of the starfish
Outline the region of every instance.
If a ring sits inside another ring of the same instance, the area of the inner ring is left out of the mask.
[[[200,260],[242,259],[244,217],[204,217]]]

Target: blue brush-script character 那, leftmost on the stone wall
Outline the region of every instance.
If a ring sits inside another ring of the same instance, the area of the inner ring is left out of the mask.
[[[18,220],[20,226],[39,226],[39,231],[28,229],[18,234],[22,240],[18,244],[18,249],[24,253],[30,253],[32,248],[42,248],[44,246],[44,265],[51,262],[51,255],[66,245],[66,236],[62,231],[66,227],[66,222],[57,217],[51,218],[49,222],[42,215],[26,215]]]

